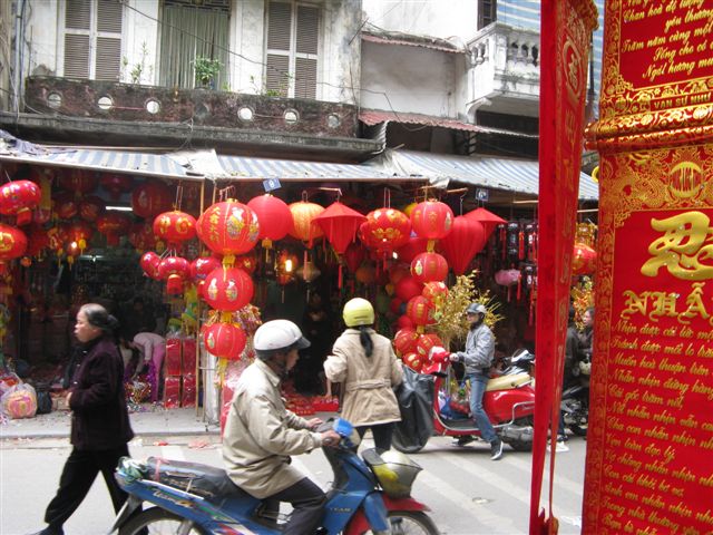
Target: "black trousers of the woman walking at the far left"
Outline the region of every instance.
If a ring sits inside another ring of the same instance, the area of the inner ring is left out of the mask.
[[[85,499],[99,473],[104,476],[109,489],[114,510],[118,513],[126,502],[127,494],[114,479],[114,471],[119,464],[119,458],[128,455],[129,449],[126,445],[100,451],[72,448],[59,478],[57,495],[45,512],[45,522],[49,527],[56,531],[61,529],[65,522]]]

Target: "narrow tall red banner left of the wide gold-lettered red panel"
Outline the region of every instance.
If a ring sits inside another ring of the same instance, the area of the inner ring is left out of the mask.
[[[590,0],[544,0],[540,31],[537,388],[530,533],[556,533],[539,516],[547,429],[556,428],[579,192],[587,60],[597,11]],[[553,440],[557,435],[553,431]],[[550,461],[550,481],[554,455]]]

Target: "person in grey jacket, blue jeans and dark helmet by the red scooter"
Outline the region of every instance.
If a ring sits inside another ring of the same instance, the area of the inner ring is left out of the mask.
[[[490,419],[482,407],[482,396],[488,386],[490,367],[495,354],[495,337],[486,325],[485,318],[488,309],[480,303],[470,303],[466,309],[470,330],[466,338],[466,350],[451,353],[451,362],[462,362],[466,377],[470,381],[470,412],[480,429],[482,439],[490,444],[490,459],[502,457],[502,440],[497,436]],[[465,446],[472,441],[472,437],[460,437],[457,446]]]

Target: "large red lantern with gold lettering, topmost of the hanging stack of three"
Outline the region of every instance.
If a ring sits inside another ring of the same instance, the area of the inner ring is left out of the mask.
[[[228,256],[229,263],[234,255],[255,246],[260,223],[245,204],[228,200],[208,206],[198,217],[196,230],[201,241],[214,253]]]

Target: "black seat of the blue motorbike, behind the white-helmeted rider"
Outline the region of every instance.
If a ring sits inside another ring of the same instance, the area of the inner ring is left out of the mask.
[[[233,483],[225,470],[197,463],[169,460],[159,457],[146,459],[147,477],[211,502],[228,496],[250,497]]]

